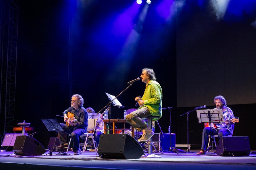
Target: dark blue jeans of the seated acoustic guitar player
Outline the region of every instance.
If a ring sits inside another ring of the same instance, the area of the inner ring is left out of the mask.
[[[77,128],[75,126],[68,127],[66,124],[60,123],[64,131],[58,131],[60,144],[68,143],[67,134],[71,135],[73,141],[73,151],[80,149],[79,136],[86,133],[86,129]]]

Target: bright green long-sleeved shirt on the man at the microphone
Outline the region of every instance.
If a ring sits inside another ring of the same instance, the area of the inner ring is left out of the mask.
[[[153,119],[158,120],[162,117],[162,88],[160,84],[154,80],[150,80],[146,85],[142,100],[144,100],[144,106],[147,107],[151,115],[160,116],[159,118]]]

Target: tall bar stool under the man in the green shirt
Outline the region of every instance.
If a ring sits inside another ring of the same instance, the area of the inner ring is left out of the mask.
[[[153,121],[153,118],[159,118],[160,116],[148,116],[148,117],[145,117],[148,119],[148,128],[150,130],[152,130],[152,121]],[[160,142],[160,141],[152,141],[152,137],[149,139],[148,142],[148,153],[145,154],[145,155],[142,155],[141,158],[161,158],[161,156],[158,156],[158,155],[155,155],[155,154],[152,154],[153,153],[153,150],[152,150],[152,144],[155,143],[155,142]]]

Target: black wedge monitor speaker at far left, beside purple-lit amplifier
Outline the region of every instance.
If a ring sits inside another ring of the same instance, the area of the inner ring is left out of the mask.
[[[27,135],[16,137],[12,151],[18,155],[42,155],[46,152],[40,142]]]

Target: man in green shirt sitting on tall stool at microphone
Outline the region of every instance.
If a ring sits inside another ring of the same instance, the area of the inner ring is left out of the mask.
[[[142,118],[151,115],[160,116],[159,118],[162,117],[163,94],[160,84],[156,82],[156,76],[153,69],[142,69],[140,77],[141,81],[147,84],[142,98],[135,97],[135,101],[140,105],[140,109],[128,114],[125,119],[135,129],[143,132],[142,137],[138,141],[145,142],[154,135],[154,132],[147,127]],[[159,118],[153,120],[158,120]]]

